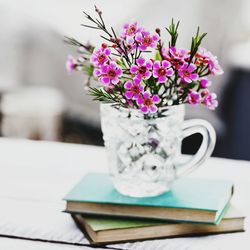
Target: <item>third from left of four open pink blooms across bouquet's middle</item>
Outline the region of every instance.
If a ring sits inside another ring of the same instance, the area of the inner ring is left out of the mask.
[[[170,77],[174,74],[174,71],[171,67],[171,63],[167,60],[155,61],[153,65],[153,76],[158,78],[159,83],[165,83],[167,77]]]

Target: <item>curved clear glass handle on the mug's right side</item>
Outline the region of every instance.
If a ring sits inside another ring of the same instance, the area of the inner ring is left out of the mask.
[[[202,143],[197,153],[186,163],[177,166],[177,178],[197,169],[213,152],[216,134],[213,126],[202,119],[191,119],[183,122],[182,139],[199,133],[202,135]]]

